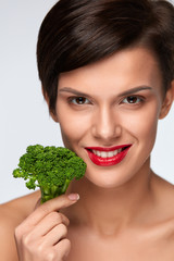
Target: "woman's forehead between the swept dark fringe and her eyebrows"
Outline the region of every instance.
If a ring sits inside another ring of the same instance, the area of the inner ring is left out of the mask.
[[[156,55],[145,48],[132,48],[94,64],[62,73],[59,87],[135,85],[162,86],[162,75]]]

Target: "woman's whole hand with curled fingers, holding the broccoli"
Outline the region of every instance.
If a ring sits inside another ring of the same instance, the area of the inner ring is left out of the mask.
[[[78,200],[78,195],[62,195],[39,206],[15,229],[20,261],[62,261],[71,249],[66,238],[69,219],[58,212]]]

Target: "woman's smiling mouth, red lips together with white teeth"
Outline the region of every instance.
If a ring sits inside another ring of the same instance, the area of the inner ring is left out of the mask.
[[[127,154],[132,145],[121,145],[112,148],[87,147],[89,159],[100,166],[119,164]]]

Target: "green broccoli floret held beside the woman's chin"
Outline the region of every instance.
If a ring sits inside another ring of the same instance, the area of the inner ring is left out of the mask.
[[[75,152],[62,147],[28,146],[20,158],[14,177],[23,177],[26,187],[40,187],[41,203],[66,191],[72,179],[84,176],[86,163]]]

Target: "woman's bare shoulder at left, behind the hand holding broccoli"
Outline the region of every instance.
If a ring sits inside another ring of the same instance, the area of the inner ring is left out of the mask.
[[[0,252],[2,260],[17,261],[14,231],[33,212],[38,199],[39,192],[34,192],[0,204]]]

